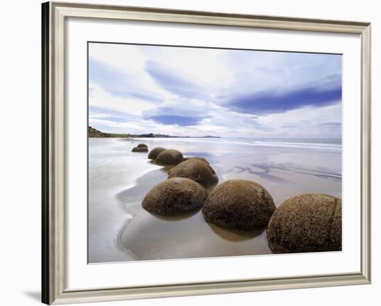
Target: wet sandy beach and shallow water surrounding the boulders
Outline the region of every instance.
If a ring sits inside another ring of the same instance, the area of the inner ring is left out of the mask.
[[[89,138],[89,263],[265,255],[265,228],[241,231],[204,221],[200,210],[163,217],[141,207],[145,194],[170,167],[133,153],[145,143],[203,156],[219,183],[249,179],[264,186],[276,206],[302,192],[341,198],[341,143],[329,140],[244,138]]]

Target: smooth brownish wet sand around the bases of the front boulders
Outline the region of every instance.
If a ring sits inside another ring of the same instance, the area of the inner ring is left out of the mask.
[[[271,253],[265,227],[241,231],[208,224],[200,208],[181,215],[148,213],[141,207],[144,195],[166,179],[168,169],[153,170],[136,186],[118,194],[133,216],[118,235],[118,246],[136,260],[200,258]],[[209,188],[209,191],[213,188]]]

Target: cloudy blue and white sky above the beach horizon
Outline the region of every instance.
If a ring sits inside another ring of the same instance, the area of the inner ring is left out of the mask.
[[[103,132],[341,138],[341,101],[341,55],[89,44]]]

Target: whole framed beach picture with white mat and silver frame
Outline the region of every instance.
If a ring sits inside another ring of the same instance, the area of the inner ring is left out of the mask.
[[[370,283],[369,23],[42,16],[43,303]]]

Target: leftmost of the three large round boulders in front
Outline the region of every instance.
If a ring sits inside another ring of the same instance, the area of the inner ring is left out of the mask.
[[[208,194],[191,179],[175,177],[158,183],[143,199],[142,206],[150,213],[175,215],[200,208]]]

